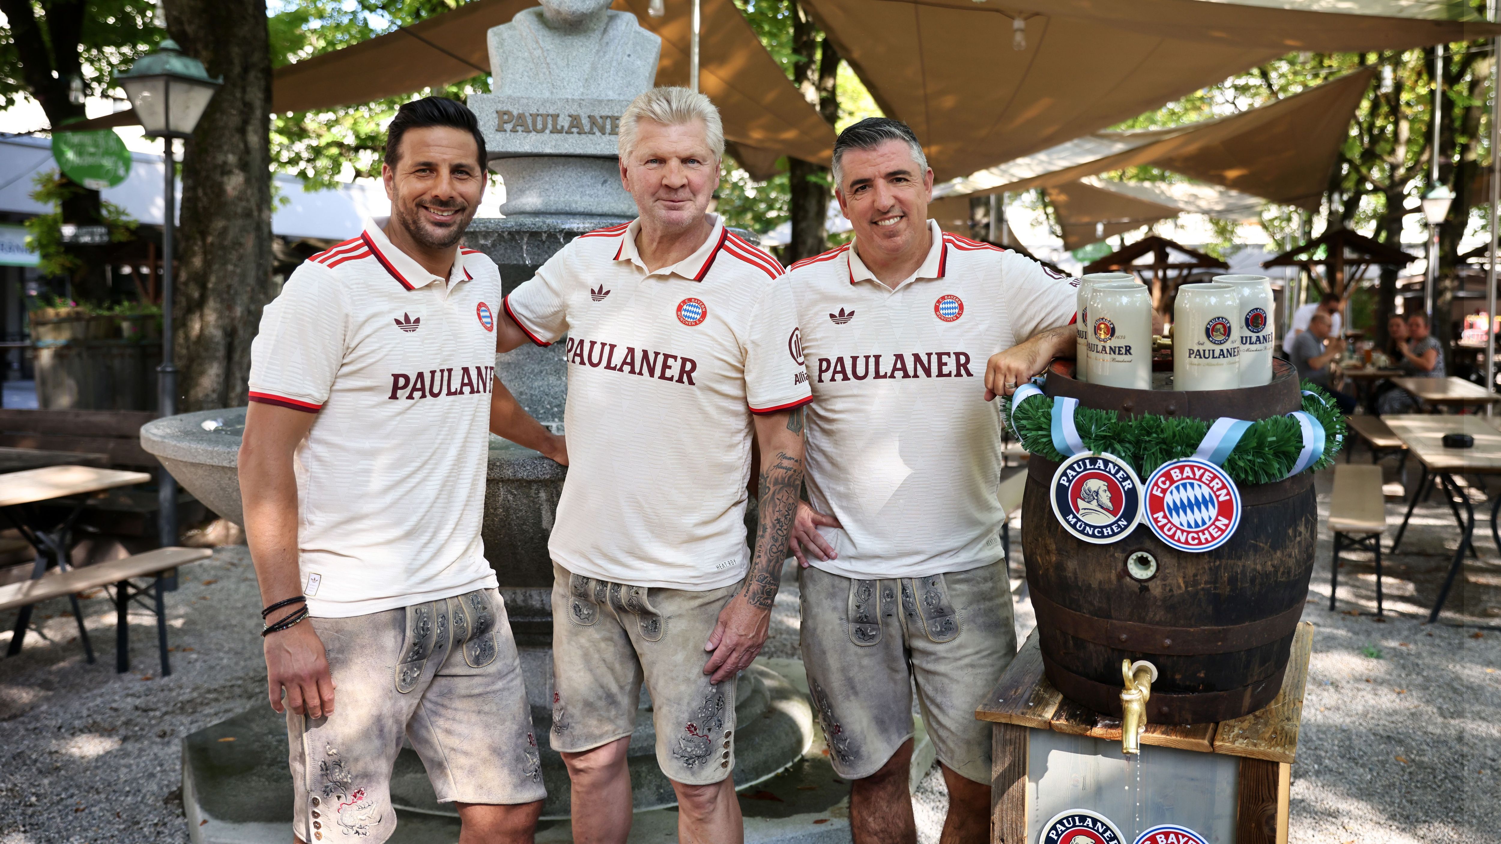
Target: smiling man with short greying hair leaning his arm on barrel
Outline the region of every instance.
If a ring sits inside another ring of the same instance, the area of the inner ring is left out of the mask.
[[[982,843],[991,730],[974,709],[1016,652],[986,402],[1073,357],[1078,282],[928,219],[934,172],[901,121],[841,132],[833,177],[854,243],[785,280],[815,399],[812,505],[791,543],[803,664],[830,760],[853,780],[856,844],[917,838],[913,681],[949,786],[943,840]]]

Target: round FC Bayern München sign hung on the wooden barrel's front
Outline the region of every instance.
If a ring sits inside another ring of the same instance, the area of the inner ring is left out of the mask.
[[[1223,546],[1240,526],[1240,490],[1225,469],[1186,457],[1147,478],[1147,526],[1181,552]]]

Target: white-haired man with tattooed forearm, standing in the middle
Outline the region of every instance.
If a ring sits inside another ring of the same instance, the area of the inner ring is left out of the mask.
[[[504,301],[498,349],[567,334],[569,475],[548,550],[552,747],[573,840],[630,831],[641,684],[681,841],[743,838],[735,675],[766,642],[803,480],[811,399],[782,267],[708,214],[723,129],[708,97],[653,88],[620,118],[639,217],[578,237]],[[752,435],[760,531],[743,526]]]

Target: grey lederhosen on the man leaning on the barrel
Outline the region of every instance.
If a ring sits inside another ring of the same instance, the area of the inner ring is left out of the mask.
[[[938,759],[991,781],[991,727],[974,709],[1016,654],[1003,564],[928,577],[799,573],[803,664],[835,771],[860,780],[913,735],[913,681]]]

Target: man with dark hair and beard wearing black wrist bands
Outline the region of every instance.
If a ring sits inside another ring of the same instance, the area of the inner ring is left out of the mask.
[[[240,495],[294,840],[390,838],[405,735],[462,841],[530,843],[545,789],[480,540],[486,429],[567,453],[489,366],[500,271],[459,247],[485,193],[474,115],[404,105],[381,177],[390,217],[299,267],[251,352]]]

